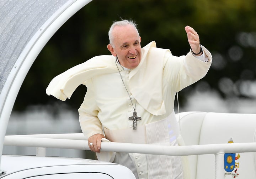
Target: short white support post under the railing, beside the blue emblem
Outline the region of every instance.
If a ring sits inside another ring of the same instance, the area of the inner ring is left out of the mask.
[[[224,152],[215,154],[215,179],[224,179]]]

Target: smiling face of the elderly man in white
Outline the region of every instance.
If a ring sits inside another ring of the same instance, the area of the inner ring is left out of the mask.
[[[132,25],[116,26],[113,29],[113,46],[108,50],[117,56],[119,63],[126,68],[137,67],[141,60],[141,37]]]

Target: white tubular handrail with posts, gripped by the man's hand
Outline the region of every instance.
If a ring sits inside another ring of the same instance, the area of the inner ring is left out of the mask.
[[[4,145],[37,147],[38,156],[45,156],[45,148],[90,150],[83,134],[8,135]],[[256,152],[256,143],[161,146],[102,142],[101,151],[170,156],[214,154],[215,178],[224,179],[224,153]]]

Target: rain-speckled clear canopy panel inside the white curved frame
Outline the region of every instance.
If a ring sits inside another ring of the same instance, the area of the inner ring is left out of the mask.
[[[39,28],[70,0],[0,0],[0,93]]]

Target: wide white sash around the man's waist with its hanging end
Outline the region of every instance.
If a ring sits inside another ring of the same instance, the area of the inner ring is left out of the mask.
[[[179,129],[175,114],[172,112],[165,119],[137,126],[137,131],[130,128],[113,131],[105,129],[105,135],[111,142],[175,146],[178,145],[176,139],[179,136]],[[147,179],[161,176],[162,178],[182,179],[180,156],[129,153],[130,162],[127,161],[127,156],[128,154],[119,153],[114,162],[130,168],[136,178]],[[122,160],[122,158],[126,158],[126,160]]]

